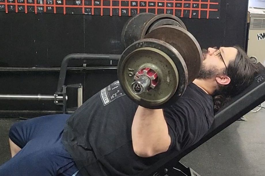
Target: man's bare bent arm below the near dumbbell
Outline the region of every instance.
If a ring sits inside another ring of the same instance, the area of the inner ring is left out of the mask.
[[[171,138],[162,109],[139,106],[132,125],[133,150],[141,157],[166,152]]]

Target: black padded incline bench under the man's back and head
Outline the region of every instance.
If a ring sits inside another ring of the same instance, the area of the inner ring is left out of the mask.
[[[139,176],[200,176],[179,160],[265,101],[265,67],[261,63],[257,65],[260,73],[255,77],[254,82],[215,114],[211,128],[201,140],[184,151],[173,152]]]

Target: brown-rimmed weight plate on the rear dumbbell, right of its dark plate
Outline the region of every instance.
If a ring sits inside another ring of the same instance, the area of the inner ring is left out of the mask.
[[[166,20],[166,19],[167,19],[167,21],[160,22],[161,20]],[[144,38],[147,33],[149,33],[150,31],[152,31],[151,30],[151,27],[152,26],[159,27],[159,26],[162,26],[162,25],[167,25],[166,23],[163,24],[163,22],[168,22],[169,23],[168,25],[174,25],[174,23],[172,21],[169,21],[169,20],[176,21],[177,22],[176,23],[177,24],[176,26],[179,26],[180,25],[179,27],[182,27],[183,29],[187,30],[185,24],[181,21],[181,19],[177,18],[176,16],[171,15],[171,14],[159,14],[159,15],[154,16],[152,19],[150,19],[145,24],[145,26],[143,28],[143,31],[141,33],[141,39]],[[152,29],[154,29],[154,27]]]

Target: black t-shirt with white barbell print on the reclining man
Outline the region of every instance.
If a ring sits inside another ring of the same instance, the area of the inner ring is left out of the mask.
[[[116,81],[89,98],[68,119],[63,144],[83,176],[139,174],[171,152],[196,143],[214,119],[212,96],[190,84],[175,104],[163,109],[171,136],[169,150],[143,158],[132,146],[137,107]]]

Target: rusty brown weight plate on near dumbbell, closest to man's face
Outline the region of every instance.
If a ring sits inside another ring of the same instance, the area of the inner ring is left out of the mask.
[[[156,38],[172,45],[187,65],[188,84],[197,78],[202,66],[202,50],[190,32],[177,26],[164,25],[154,28],[145,35],[145,38]]]

